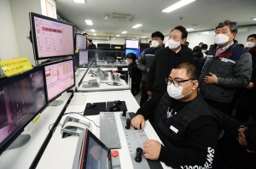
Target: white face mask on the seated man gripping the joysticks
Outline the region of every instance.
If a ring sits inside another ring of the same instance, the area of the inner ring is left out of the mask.
[[[190,82],[187,86],[188,87],[192,82]],[[189,93],[186,93],[185,95],[182,94],[183,88],[185,87],[175,87],[174,84],[172,83],[171,85],[167,85],[167,93],[169,94],[170,97],[173,99],[182,99],[184,96],[188,95],[191,93],[193,90],[191,90]]]

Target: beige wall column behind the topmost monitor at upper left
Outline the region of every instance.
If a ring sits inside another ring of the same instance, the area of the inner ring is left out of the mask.
[[[38,0],[9,0],[9,3],[15,25],[19,55],[20,57],[27,57],[31,64],[35,65],[32,43],[26,36],[29,35],[30,31],[29,12],[41,14],[40,2]]]

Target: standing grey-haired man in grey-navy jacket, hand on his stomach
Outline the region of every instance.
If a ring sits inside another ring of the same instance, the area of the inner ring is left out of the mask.
[[[208,51],[199,79],[202,97],[223,113],[236,87],[247,87],[252,75],[252,56],[234,40],[236,33],[236,22],[225,20],[216,26],[215,44]]]

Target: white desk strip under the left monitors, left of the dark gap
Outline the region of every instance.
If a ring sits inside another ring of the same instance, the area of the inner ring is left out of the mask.
[[[19,149],[10,149],[0,156],[0,168],[27,169],[32,165],[32,161],[38,154],[39,149],[49,134],[49,125],[55,123],[61,110],[67,103],[72,93],[64,93],[60,98],[64,101],[59,106],[48,106],[40,116],[40,119],[26,134],[31,135],[30,141]]]

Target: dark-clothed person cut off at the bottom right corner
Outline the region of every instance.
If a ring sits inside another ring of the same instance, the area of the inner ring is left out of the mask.
[[[253,169],[256,168],[256,122],[242,123],[224,113],[224,136],[218,140],[212,168]]]

